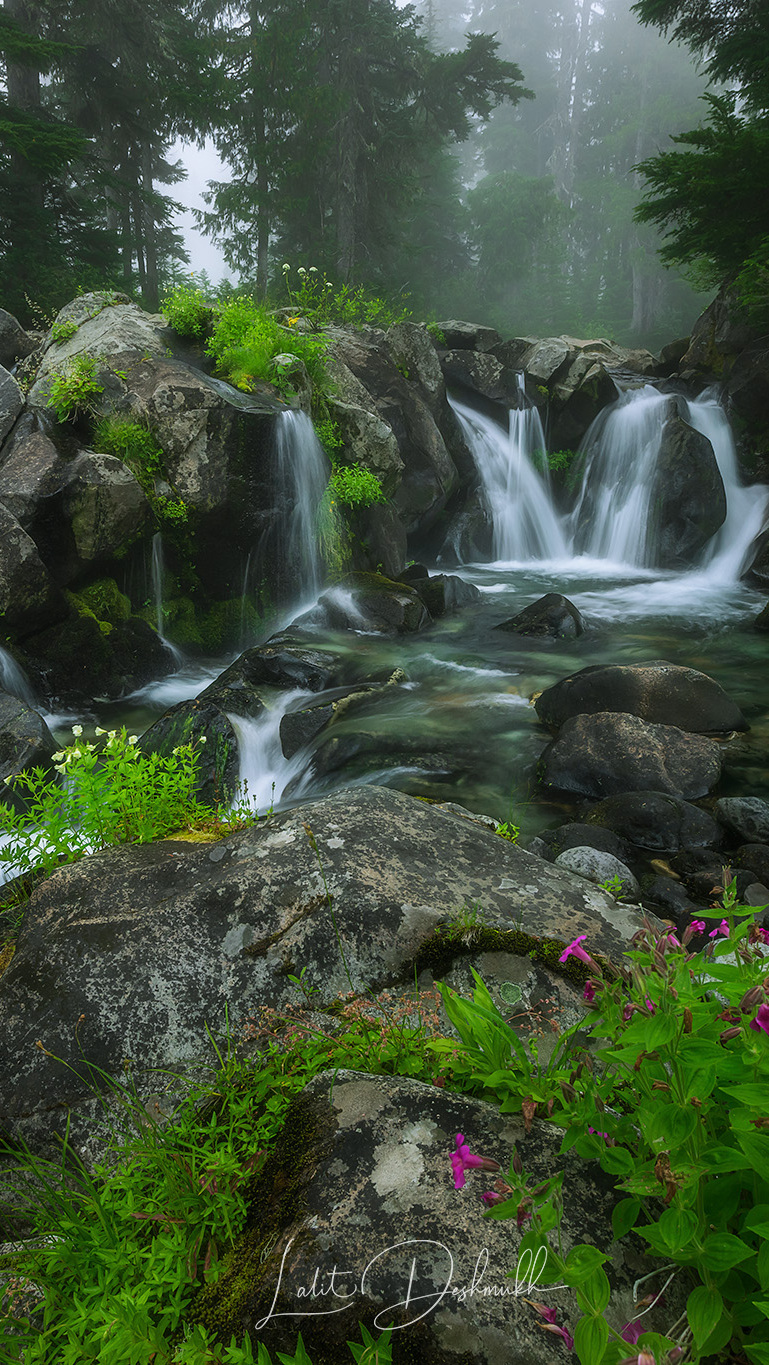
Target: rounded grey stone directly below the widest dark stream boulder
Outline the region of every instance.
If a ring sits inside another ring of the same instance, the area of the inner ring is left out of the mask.
[[[702,734],[602,711],[565,721],[542,753],[537,773],[545,789],[578,796],[652,789],[697,800],[716,786],[721,751]]]

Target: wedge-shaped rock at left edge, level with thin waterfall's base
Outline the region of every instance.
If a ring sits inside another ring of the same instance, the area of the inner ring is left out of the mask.
[[[23,639],[66,614],[34,541],[0,504],[0,631]]]

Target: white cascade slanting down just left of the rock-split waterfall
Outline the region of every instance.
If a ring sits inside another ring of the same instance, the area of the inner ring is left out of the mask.
[[[522,403],[523,375],[519,375]],[[473,452],[493,526],[492,556],[497,562],[565,557],[560,517],[550,497],[549,475],[531,463],[546,449],[535,407],[511,408],[505,433],[492,418],[451,399]]]

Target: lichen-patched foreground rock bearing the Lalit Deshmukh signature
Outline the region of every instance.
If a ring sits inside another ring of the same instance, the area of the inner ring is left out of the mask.
[[[300,1328],[309,1355],[324,1361],[346,1357],[358,1323],[376,1335],[393,1321],[393,1358],[403,1342],[423,1365],[553,1365],[557,1347],[526,1299],[545,1299],[574,1330],[574,1291],[537,1290],[519,1261],[515,1218],[482,1219],[493,1175],[474,1171],[453,1188],[458,1133],[503,1173],[514,1152],[535,1181],[564,1168],[563,1253],[587,1241],[609,1254],[608,1316],[621,1330],[634,1316],[632,1283],[653,1263],[632,1238],[615,1242],[617,1196],[597,1162],[559,1156],[560,1132],[537,1119],[526,1133],[519,1115],[482,1100],[350,1070],[316,1076],[294,1100],[246,1228],[193,1319],[216,1323],[223,1342],[249,1331],[270,1353],[294,1351]],[[332,1286],[346,1299],[335,1310]],[[673,1310],[683,1302],[676,1293]],[[643,1321],[664,1325],[660,1313]]]

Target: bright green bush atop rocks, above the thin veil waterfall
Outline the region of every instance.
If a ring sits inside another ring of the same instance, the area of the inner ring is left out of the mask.
[[[280,367],[275,363],[280,355],[303,360],[313,389],[322,393],[328,384],[326,345],[325,337],[283,328],[255,299],[239,295],[219,306],[206,351],[216,359],[221,375],[246,393],[258,381],[281,388]]]

